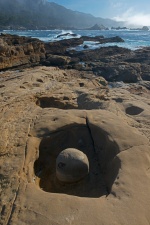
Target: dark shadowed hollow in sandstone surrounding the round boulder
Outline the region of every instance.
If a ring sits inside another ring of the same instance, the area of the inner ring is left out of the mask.
[[[78,182],[65,183],[56,177],[56,158],[67,148],[82,151],[89,160],[89,174]],[[117,177],[121,167],[116,157],[118,152],[117,143],[104,130],[88,125],[65,126],[42,138],[39,158],[34,163],[35,175],[40,188],[46,192],[99,198],[109,194]]]

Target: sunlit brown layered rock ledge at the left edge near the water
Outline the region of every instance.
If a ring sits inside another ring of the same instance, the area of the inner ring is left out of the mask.
[[[38,39],[2,34],[0,69],[38,65],[45,58],[44,43]]]

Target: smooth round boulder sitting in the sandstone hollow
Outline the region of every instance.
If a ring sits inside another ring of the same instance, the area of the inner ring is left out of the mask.
[[[67,148],[56,159],[56,177],[59,181],[73,183],[83,179],[89,173],[87,156],[75,149]]]

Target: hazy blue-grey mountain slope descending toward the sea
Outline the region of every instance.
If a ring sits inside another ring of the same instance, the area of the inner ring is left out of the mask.
[[[47,0],[0,0],[0,29],[85,29],[122,26],[111,19],[66,9]]]

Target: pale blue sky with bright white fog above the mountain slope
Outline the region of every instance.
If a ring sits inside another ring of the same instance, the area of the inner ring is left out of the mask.
[[[94,16],[150,26],[150,0],[49,0]]]

